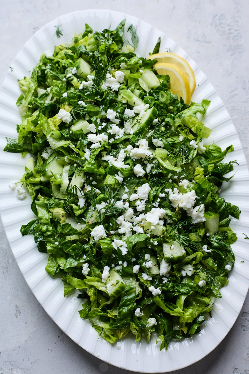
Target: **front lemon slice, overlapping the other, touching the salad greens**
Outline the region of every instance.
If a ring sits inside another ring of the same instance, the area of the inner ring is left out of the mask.
[[[187,104],[190,104],[191,91],[186,74],[177,65],[165,64],[165,62],[157,62],[154,68],[160,75],[168,74],[171,92],[179,98],[181,96]]]

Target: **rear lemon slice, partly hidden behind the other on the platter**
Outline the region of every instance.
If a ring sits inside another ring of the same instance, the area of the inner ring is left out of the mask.
[[[177,65],[186,74],[187,79],[189,80],[191,95],[193,94],[196,86],[196,80],[191,66],[186,60],[184,60],[184,58],[169,52],[156,53],[155,55],[151,55],[148,58],[151,60],[156,59],[158,60],[158,62],[165,62],[166,64]]]

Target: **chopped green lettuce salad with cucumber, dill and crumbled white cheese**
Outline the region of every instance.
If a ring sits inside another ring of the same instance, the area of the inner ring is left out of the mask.
[[[32,155],[21,184],[37,218],[21,233],[49,254],[65,297],[78,290],[81,318],[110,343],[155,331],[167,349],[200,332],[234,265],[240,211],[218,194],[233,145],[203,145],[209,101],[174,95],[124,28],[86,24],[41,55],[19,80],[22,123],[4,150]]]

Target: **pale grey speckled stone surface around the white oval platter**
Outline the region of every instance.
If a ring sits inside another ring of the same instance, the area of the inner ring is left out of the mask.
[[[162,30],[197,62],[227,107],[249,161],[248,0],[1,0],[0,5],[0,85],[22,45],[57,16],[88,8],[126,12]],[[29,290],[2,225],[0,243],[0,374],[130,373],[63,334]],[[174,373],[249,374],[249,297],[221,344]]]

